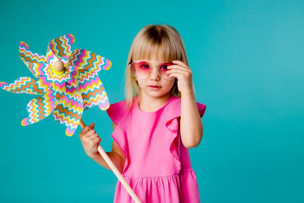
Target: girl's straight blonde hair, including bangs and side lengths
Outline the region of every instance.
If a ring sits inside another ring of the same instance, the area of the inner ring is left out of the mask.
[[[143,58],[150,59],[152,53],[156,52],[162,53],[165,61],[180,60],[189,66],[183,39],[175,28],[169,25],[147,25],[142,28],[131,44],[126,64],[125,96],[128,109],[135,97],[138,96],[137,104],[141,98],[141,89],[130,72],[129,63]],[[176,82],[170,90],[171,95],[181,96]]]

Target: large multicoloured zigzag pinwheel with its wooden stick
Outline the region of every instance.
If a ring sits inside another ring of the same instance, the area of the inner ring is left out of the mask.
[[[31,52],[25,42],[20,42],[19,56],[38,80],[19,77],[11,84],[0,82],[0,88],[8,92],[42,95],[28,103],[29,116],[21,121],[22,126],[41,121],[52,113],[57,123],[67,126],[66,135],[72,136],[78,125],[85,126],[81,120],[84,110],[96,105],[101,110],[109,108],[98,72],[109,70],[111,61],[84,49],[71,51],[74,41],[72,34],[51,40],[45,56]],[[100,145],[98,151],[134,201],[140,203]]]

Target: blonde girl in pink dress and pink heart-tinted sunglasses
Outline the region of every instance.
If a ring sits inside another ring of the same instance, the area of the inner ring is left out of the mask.
[[[147,25],[130,48],[126,100],[110,105],[107,152],[142,203],[199,203],[189,149],[203,137],[206,105],[197,103],[184,42],[168,25]],[[94,124],[80,133],[85,153],[110,169],[97,151]],[[132,203],[118,181],[114,203]]]

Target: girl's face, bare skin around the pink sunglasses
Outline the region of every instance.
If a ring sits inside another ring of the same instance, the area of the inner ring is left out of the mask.
[[[152,97],[169,97],[170,90],[173,87],[175,80],[166,80],[158,74],[156,66],[159,66],[161,63],[165,62],[163,57],[152,55],[150,60],[140,60],[144,60],[151,65],[150,74],[145,78],[137,79],[138,85],[141,89],[141,94],[143,96]]]

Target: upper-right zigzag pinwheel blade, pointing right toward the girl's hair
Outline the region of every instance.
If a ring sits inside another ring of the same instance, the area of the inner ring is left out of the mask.
[[[90,69],[94,73],[102,70],[109,70],[112,66],[110,60],[85,49],[76,49],[70,55],[68,65]]]

